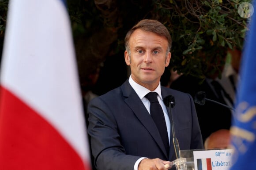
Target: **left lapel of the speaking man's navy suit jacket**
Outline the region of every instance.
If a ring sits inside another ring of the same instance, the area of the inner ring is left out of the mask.
[[[147,112],[147,109],[143,105],[143,102],[140,100],[135,90],[132,89],[128,81],[126,81],[123,84],[123,87],[124,88],[122,88],[122,91],[124,93],[124,97],[126,97],[124,101],[132,109],[132,111],[140,120],[140,122],[143,124],[143,126],[148,130],[148,132],[154,138],[154,140],[156,141],[158,146],[161,148],[166,158],[168,158],[161,136],[157,130],[157,127],[155,126],[154,121],[151,118],[150,114]]]

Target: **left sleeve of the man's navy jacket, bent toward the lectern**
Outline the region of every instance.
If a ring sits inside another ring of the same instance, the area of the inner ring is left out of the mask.
[[[112,109],[101,98],[88,105],[88,134],[98,170],[133,170],[140,157],[125,154]]]

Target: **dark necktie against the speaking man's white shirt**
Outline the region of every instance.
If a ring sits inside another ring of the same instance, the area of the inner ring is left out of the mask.
[[[169,154],[169,139],[166,127],[166,120],[164,117],[162,107],[158,102],[157,93],[149,92],[145,97],[150,101],[151,117],[154,120],[154,123],[156,124],[158,131],[162,137],[162,141],[165,145],[166,152],[167,154]]]

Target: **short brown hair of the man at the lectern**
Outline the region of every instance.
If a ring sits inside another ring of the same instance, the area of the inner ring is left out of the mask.
[[[171,35],[170,35],[168,29],[161,22],[154,20],[154,19],[143,19],[140,22],[138,22],[136,25],[134,25],[132,27],[132,29],[130,29],[128,31],[128,33],[126,34],[126,36],[124,38],[124,44],[125,44],[126,50],[129,49],[128,42],[130,40],[132,33],[136,29],[142,29],[143,31],[156,33],[158,36],[166,37],[166,39],[168,41],[168,49],[167,50],[168,50],[168,52],[171,50],[172,38],[171,38]]]

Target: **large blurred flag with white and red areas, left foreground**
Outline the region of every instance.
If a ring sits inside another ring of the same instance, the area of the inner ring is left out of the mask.
[[[0,70],[0,170],[90,170],[68,11],[9,0]]]

